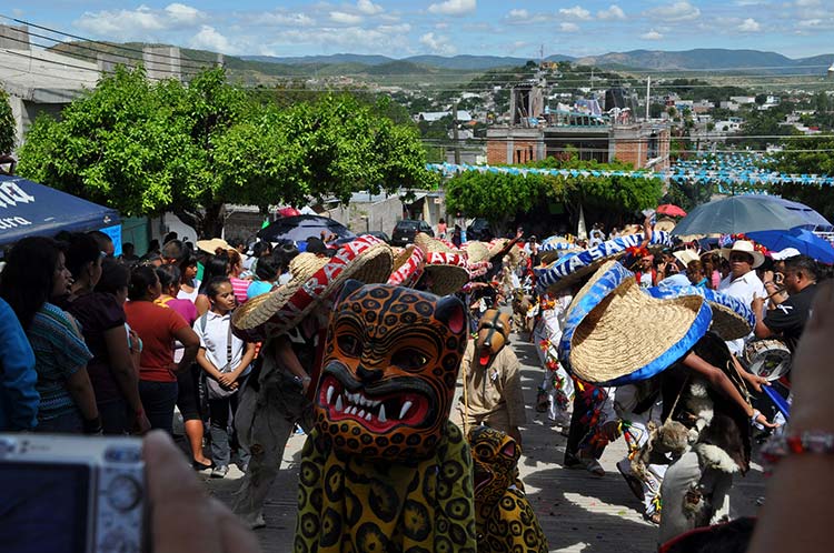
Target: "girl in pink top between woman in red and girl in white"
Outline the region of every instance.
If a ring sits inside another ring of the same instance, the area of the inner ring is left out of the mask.
[[[196,271],[196,265],[195,265]],[[190,300],[175,298],[179,290],[180,273],[176,265],[163,265],[157,269],[157,276],[162,285],[162,293],[156,302],[172,309],[186,320],[189,326],[197,320],[197,308]],[[173,362],[182,360],[185,348],[180,342],[173,343]],[[200,369],[196,364],[177,374],[177,406],[182,415],[188,443],[191,446],[191,462],[197,470],[210,469],[211,460],[202,453],[202,413],[199,400]]]

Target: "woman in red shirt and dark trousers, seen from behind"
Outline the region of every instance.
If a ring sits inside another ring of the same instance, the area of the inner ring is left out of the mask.
[[[128,324],[142,341],[139,395],[148,420],[152,429],[170,434],[177,402],[177,374],[190,370],[200,341],[179,313],[153,303],[161,288],[153,268],[136,268],[130,275],[130,301],[125,304],[125,313]],[[173,362],[176,340],[185,348],[179,363]]]

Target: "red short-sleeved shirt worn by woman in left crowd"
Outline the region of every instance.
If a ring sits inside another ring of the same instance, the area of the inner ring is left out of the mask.
[[[152,382],[176,382],[168,369],[173,363],[175,332],[188,328],[188,322],[172,309],[149,301],[125,303],[125,314],[130,325],[142,340],[139,359],[139,379]]]

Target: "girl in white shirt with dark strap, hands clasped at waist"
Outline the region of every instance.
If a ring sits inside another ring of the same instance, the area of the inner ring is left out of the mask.
[[[231,312],[237,305],[228,278],[215,278],[206,286],[211,309],[193,324],[200,338],[197,363],[207,375],[207,394],[211,418],[211,458],[214,477],[229,472],[231,446],[229,443],[230,416],[235,416],[238,391],[249,375],[255,359],[255,344],[246,343],[231,333]],[[240,465],[246,470],[248,453],[241,452]]]

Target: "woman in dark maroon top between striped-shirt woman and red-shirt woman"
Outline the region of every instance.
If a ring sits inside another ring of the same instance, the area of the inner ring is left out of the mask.
[[[66,308],[81,323],[92,352],[87,371],[105,434],[143,433],[150,423],[139,398],[139,381],[125,330],[125,300],[117,299],[127,292],[130,273],[111,259],[102,263],[96,240],[80,232],[69,238],[67,268],[75,282]]]

